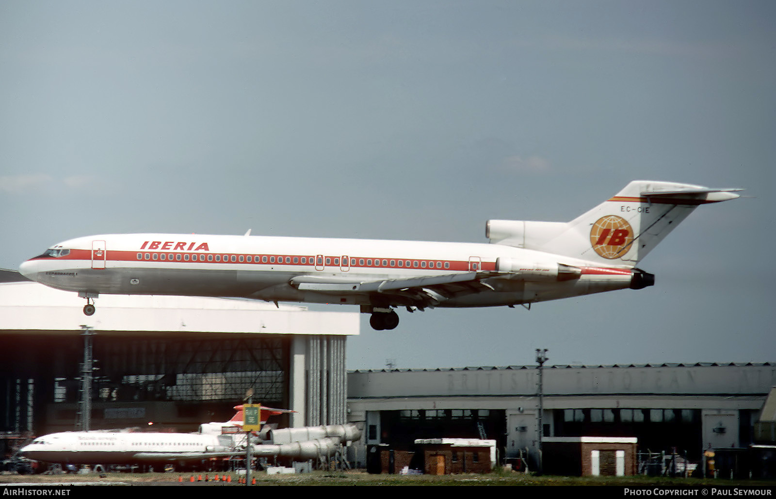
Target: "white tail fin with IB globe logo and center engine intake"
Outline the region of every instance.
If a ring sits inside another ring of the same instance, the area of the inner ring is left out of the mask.
[[[738,198],[741,190],[632,181],[571,222],[490,220],[487,232],[491,243],[635,267],[698,205]]]

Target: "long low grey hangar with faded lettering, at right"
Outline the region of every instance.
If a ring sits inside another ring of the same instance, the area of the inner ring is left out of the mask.
[[[641,452],[700,461],[709,446],[753,443],[776,363],[545,366],[542,378],[542,438],[636,437]],[[535,469],[538,382],[537,366],[352,371],[348,418],[362,446],[495,439],[500,458],[527,455]]]

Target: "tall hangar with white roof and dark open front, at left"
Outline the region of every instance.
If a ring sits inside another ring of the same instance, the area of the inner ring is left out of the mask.
[[[0,432],[80,429],[84,330],[93,328],[91,429],[192,432],[253,403],[269,422],[340,425],[345,338],[359,313],[241,299],[101,295],[95,315],[68,291],[0,270]]]

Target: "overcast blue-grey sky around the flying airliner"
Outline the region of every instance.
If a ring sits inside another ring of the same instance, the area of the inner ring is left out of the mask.
[[[634,179],[743,187],[650,253],[654,287],[363,315],[348,369],[774,361],[774,26],[769,1],[0,2],[0,267],[114,232],[486,242]]]

